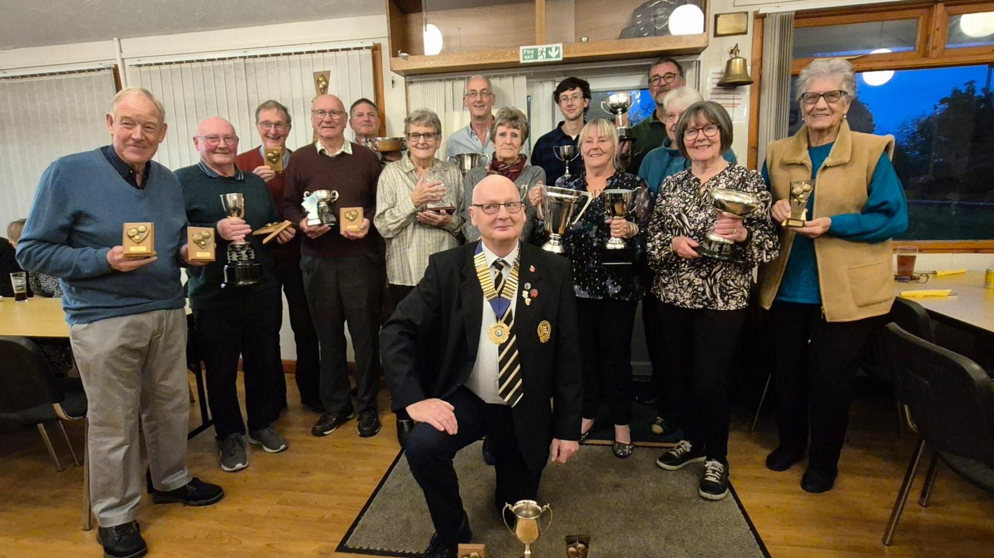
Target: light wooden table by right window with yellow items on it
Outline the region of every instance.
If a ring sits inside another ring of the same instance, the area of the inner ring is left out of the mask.
[[[902,291],[952,289],[954,297],[912,297],[937,320],[950,325],[994,333],[994,289],[984,288],[983,271],[967,271],[956,275],[930,276],[927,283],[894,282],[895,294]]]

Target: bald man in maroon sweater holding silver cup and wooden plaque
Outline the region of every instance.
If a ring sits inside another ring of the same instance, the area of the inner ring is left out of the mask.
[[[311,125],[317,141],[293,152],[286,169],[283,216],[304,232],[300,268],[311,316],[321,345],[321,403],[324,414],[311,429],[331,434],[359,411],[359,435],[380,431],[377,393],[380,381],[380,312],[384,266],[372,226],[380,161],[369,149],[345,139],[348,113],[335,95],[321,95],[311,104]],[[336,224],[308,225],[301,207],[304,192],[334,190],[339,209],[362,208],[362,229],[351,232]],[[345,324],[356,352],[356,405],[349,393]]]

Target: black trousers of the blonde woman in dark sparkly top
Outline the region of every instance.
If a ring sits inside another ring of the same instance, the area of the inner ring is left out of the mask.
[[[597,417],[603,396],[612,424],[631,422],[631,331],[637,306],[637,301],[577,298],[583,418]]]

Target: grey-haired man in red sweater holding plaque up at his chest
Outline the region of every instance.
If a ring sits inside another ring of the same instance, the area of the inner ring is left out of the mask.
[[[274,171],[265,165],[263,153],[266,149],[282,148],[282,169],[290,161],[290,150],[286,149],[286,138],[290,135],[290,113],[285,106],[275,100],[267,100],[255,109],[255,129],[262,140],[262,145],[239,155],[236,165],[243,171],[251,171],[265,181],[272,196],[272,202],[279,208],[283,204],[283,183],[286,178],[282,170]],[[297,365],[294,377],[297,389],[300,391],[300,402],[304,407],[323,413],[320,393],[320,372],[318,369],[318,342],[314,323],[311,322],[310,309],[307,307],[307,295],[304,292],[304,278],[300,271],[300,237],[297,234],[285,244],[274,244],[271,248],[276,262],[276,281],[282,286],[289,306],[290,328],[293,329],[293,339],[297,344]],[[282,315],[280,315],[280,324]],[[276,347],[277,354],[279,347]],[[286,380],[282,370],[273,389],[275,397],[286,406]]]

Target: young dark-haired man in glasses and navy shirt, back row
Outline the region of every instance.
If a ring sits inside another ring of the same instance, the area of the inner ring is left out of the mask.
[[[532,165],[545,169],[546,183],[550,186],[566,174],[566,163],[556,157],[554,148],[577,145],[577,136],[586,123],[586,110],[590,106],[590,84],[580,77],[567,77],[556,85],[553,100],[564,119],[555,130],[540,137],[532,150]],[[580,153],[579,147],[577,153]],[[582,170],[583,160],[578,156],[570,162],[570,174],[577,175]]]

